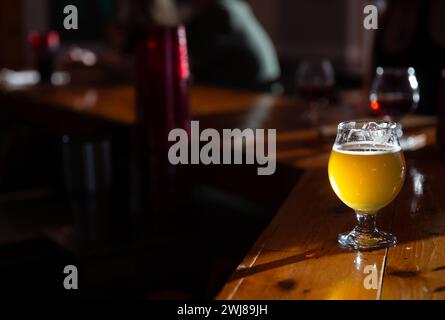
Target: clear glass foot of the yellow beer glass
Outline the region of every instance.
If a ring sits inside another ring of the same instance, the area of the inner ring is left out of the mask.
[[[389,248],[397,243],[396,236],[375,229],[372,232],[360,232],[356,229],[337,236],[338,244],[346,249],[373,250]]]

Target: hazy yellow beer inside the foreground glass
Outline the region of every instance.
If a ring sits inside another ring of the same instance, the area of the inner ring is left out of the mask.
[[[349,207],[376,214],[399,193],[405,179],[400,146],[346,143],[334,146],[329,158],[329,181]]]

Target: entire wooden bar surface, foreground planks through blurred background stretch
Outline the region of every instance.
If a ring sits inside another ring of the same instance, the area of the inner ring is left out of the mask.
[[[357,101],[323,110],[318,124],[362,115]],[[130,86],[0,90],[0,105],[0,112],[43,126],[51,126],[48,119],[57,114],[57,125],[64,130],[73,119],[83,126],[88,121],[129,126],[135,117]],[[428,147],[406,154],[404,188],[379,215],[379,226],[395,233],[399,244],[372,252],[345,251],[335,238],[353,227],[353,214],[327,180],[332,136],[324,137],[310,123],[307,106],[289,97],[194,87],[192,113],[203,127],[276,128],[278,161],[306,169],[218,299],[445,298],[442,152]],[[425,132],[434,143],[433,129]],[[367,268],[377,272],[375,288],[364,286]]]

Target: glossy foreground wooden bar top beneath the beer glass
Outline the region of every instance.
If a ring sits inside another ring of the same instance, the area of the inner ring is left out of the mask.
[[[396,247],[338,247],[354,226],[326,168],[308,170],[241,262],[218,299],[445,299],[445,153],[407,152],[407,179],[379,227]],[[375,270],[374,287],[370,269]]]

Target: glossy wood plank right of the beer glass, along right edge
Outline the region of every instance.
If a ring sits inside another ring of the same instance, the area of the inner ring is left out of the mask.
[[[408,157],[396,200],[383,299],[445,299],[445,154],[435,148]]]

